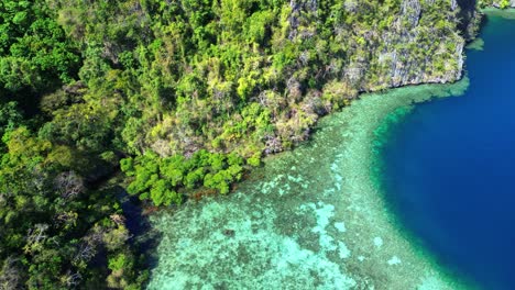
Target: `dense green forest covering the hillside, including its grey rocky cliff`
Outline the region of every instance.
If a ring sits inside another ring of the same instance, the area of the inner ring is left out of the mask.
[[[120,187],[226,194],[361,91],[460,78],[450,2],[1,1],[0,289],[140,289]]]

